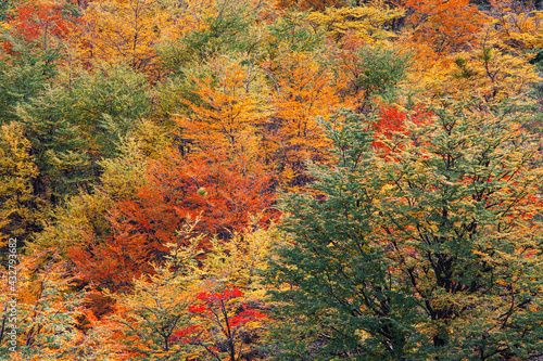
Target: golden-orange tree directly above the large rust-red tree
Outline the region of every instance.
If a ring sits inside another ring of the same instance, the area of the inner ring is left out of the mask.
[[[257,157],[257,129],[267,111],[253,92],[255,77],[254,70],[233,60],[210,62],[207,74],[192,77],[193,99],[182,100],[187,111],[177,119],[180,136],[203,152],[227,150],[248,159]]]

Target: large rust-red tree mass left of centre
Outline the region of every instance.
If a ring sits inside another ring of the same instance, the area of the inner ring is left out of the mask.
[[[86,282],[111,289],[129,288],[131,280],[152,272],[150,261],[167,255],[166,244],[188,242],[178,231],[199,220],[194,232],[206,236],[201,247],[217,235],[229,238],[262,215],[260,223],[277,217],[272,209],[273,189],[266,173],[249,172],[240,159],[222,154],[151,162],[144,185],[129,198],[116,199],[109,215],[109,234],[84,234],[71,249],[76,271]]]

